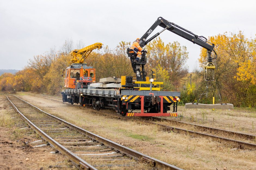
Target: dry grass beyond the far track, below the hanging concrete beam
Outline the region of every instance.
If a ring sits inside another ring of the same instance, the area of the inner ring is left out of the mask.
[[[178,118],[169,117],[169,119],[256,135],[256,111],[221,109],[212,111],[211,109],[185,109],[184,106],[179,106],[178,116]]]

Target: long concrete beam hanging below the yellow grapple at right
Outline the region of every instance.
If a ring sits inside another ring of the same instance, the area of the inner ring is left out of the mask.
[[[201,104],[201,103],[186,103],[186,109],[233,109],[233,104],[222,103],[222,104]]]

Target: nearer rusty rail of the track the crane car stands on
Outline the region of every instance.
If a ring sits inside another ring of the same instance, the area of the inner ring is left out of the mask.
[[[48,98],[48,100],[53,100],[53,99]],[[78,107],[78,108],[94,110],[92,108],[87,108],[87,107],[82,107],[82,106],[79,106],[79,105],[69,104],[69,103],[66,103],[66,102],[58,101],[58,100],[53,100],[53,101],[61,102],[63,104],[71,105],[71,106]],[[96,111],[96,110],[94,110],[94,111]],[[131,117],[123,117],[123,116],[113,114],[113,113],[108,113],[108,112],[105,112],[105,111],[99,111],[99,112],[104,113],[107,116],[116,117],[118,119],[130,120],[130,121],[140,121],[140,122],[143,122],[145,124],[154,124],[154,125],[157,125],[159,127],[162,127],[164,130],[167,130],[167,131],[173,131],[173,132],[176,132],[176,133],[185,133],[185,134],[189,134],[189,135],[195,136],[195,137],[201,136],[201,137],[204,137],[206,139],[211,138],[214,141],[225,142],[225,143],[228,143],[228,144],[232,144],[232,146],[238,147],[238,148],[256,149],[256,145],[253,144],[253,143],[247,143],[247,142],[242,142],[242,141],[239,141],[239,140],[228,139],[228,138],[225,138],[225,137],[214,136],[214,135],[211,135],[211,134],[205,134],[205,133],[200,133],[200,132],[196,132],[196,131],[192,131],[192,130],[171,127],[171,126],[167,126],[167,125],[163,125],[163,124],[159,124],[159,123],[155,123],[155,122],[150,122],[150,121],[146,121],[146,120],[141,120],[141,119],[136,119],[136,118],[131,118]]]

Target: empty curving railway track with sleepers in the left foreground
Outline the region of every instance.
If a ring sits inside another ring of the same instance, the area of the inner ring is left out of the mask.
[[[180,169],[68,123],[19,97],[6,97],[29,127],[79,169]]]

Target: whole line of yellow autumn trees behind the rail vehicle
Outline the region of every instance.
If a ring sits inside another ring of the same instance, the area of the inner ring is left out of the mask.
[[[215,96],[216,103],[256,107],[256,39],[246,38],[239,31],[237,34],[218,34],[209,37],[209,41],[215,44],[218,54],[218,58],[213,60],[215,81],[204,81],[206,49],[201,48],[200,69],[189,73],[187,48],[178,41],[164,44],[160,37],[145,47],[148,76],[151,69],[156,69],[157,81],[164,82],[163,90],[181,91],[182,103],[210,104]],[[87,65],[96,69],[96,81],[110,76],[135,76],[126,54],[130,45],[131,42],[121,41],[114,49],[103,46],[103,52],[94,50],[87,57]],[[62,69],[71,64],[71,57],[67,54],[84,46],[82,40],[75,44],[72,39],[67,39],[59,50],[51,48],[44,54],[33,56],[23,70],[16,74],[2,74],[0,89],[60,94],[63,89]]]

